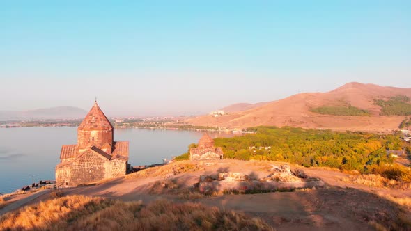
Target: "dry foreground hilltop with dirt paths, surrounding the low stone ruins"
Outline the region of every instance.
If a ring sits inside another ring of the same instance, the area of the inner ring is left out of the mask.
[[[309,177],[323,180],[325,186],[251,194],[204,195],[195,190],[201,175],[228,171],[259,177],[281,164],[301,169]],[[378,182],[371,175],[348,175],[274,161],[178,161],[63,189],[67,197],[58,200],[49,200],[54,193],[44,193],[26,202],[28,207],[0,216],[0,229],[44,229],[51,225],[56,229],[133,230],[132,224],[147,230],[167,230],[168,226],[158,223],[170,222],[176,225],[172,229],[180,230],[408,230],[410,190],[388,189]],[[13,205],[22,198],[24,195],[6,200]]]

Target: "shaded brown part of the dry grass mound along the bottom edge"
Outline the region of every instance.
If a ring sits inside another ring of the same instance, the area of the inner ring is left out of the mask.
[[[107,230],[272,230],[261,219],[237,212],[222,212],[217,207],[164,200],[141,207],[134,203],[126,203],[125,206],[118,202],[113,207],[102,209],[79,221],[73,230],[99,230],[100,227]]]

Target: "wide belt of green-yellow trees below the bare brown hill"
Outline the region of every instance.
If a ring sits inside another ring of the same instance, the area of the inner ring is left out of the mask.
[[[364,172],[364,166],[391,164],[387,149],[401,150],[400,136],[365,132],[332,132],[293,127],[251,127],[256,134],[216,138],[224,158],[286,161],[303,166],[326,166]],[[250,150],[250,147],[257,148]]]

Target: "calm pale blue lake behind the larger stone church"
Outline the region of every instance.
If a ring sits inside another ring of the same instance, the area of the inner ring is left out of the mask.
[[[159,164],[187,152],[204,132],[159,129],[115,129],[115,141],[130,141],[132,166]],[[213,138],[231,136],[210,133]],[[32,180],[54,180],[61,145],[77,143],[77,127],[0,128],[0,193],[10,193]]]

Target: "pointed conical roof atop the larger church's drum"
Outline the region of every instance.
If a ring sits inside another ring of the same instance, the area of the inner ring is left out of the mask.
[[[79,125],[79,130],[109,130],[113,129],[109,119],[104,115],[97,102],[88,112],[86,118]]]

